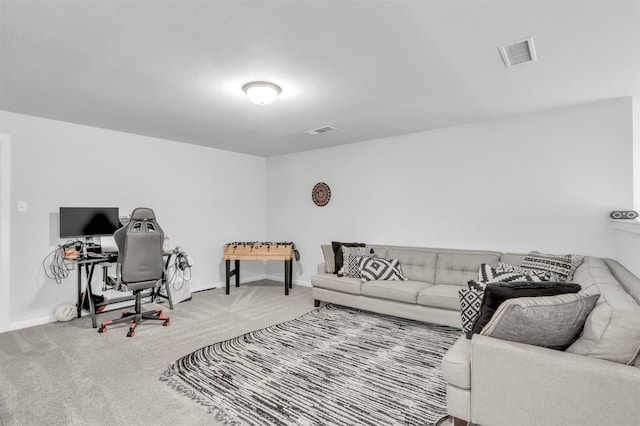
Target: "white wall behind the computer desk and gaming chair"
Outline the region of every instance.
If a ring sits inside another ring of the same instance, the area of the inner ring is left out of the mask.
[[[154,209],[171,245],[195,260],[192,291],[224,283],[224,243],[266,236],[262,157],[4,111],[0,123],[12,157],[11,280],[2,283],[9,328],[50,321],[57,305],[75,303],[75,271],[58,285],[42,267],[61,242],[61,206]],[[28,212],[17,212],[18,200]],[[241,277],[264,273],[263,264],[247,263]]]

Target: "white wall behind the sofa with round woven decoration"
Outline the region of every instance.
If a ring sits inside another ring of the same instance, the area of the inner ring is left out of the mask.
[[[267,237],[296,242],[299,283],[331,240],[615,257],[631,121],[624,98],[271,157]],[[316,207],[321,181],[332,198]]]

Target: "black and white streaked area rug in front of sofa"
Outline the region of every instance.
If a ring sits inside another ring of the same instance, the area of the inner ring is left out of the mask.
[[[335,305],[201,348],[161,377],[239,425],[433,425],[460,330]]]

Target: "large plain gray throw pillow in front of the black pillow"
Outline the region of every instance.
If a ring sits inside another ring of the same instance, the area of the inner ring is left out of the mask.
[[[565,350],[582,332],[599,294],[520,297],[500,305],[480,334]]]

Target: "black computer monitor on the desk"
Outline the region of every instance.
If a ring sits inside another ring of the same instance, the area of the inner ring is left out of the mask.
[[[118,217],[117,207],[60,207],[60,238],[113,235]]]

